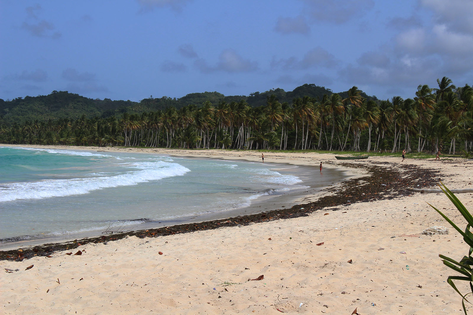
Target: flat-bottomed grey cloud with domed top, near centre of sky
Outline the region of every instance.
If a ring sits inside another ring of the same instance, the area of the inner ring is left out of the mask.
[[[210,66],[209,64],[207,64],[207,61],[202,58],[195,60],[194,65],[202,73],[211,73],[216,71],[224,71],[230,73],[251,72],[257,70],[258,68],[257,62],[244,59],[232,49],[222,51],[219,56],[219,62],[216,66]]]

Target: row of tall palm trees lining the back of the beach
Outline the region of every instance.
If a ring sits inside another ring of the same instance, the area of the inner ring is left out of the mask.
[[[0,142],[42,145],[122,145],[180,148],[317,149],[387,151],[406,148],[437,151],[442,145],[455,153],[473,145],[473,89],[456,88],[447,77],[438,88],[419,85],[415,97],[373,101],[353,86],[322,99],[303,97],[291,104],[272,95],[265,106],[245,101],[122,117],[27,121],[0,126]],[[445,148],[444,148],[445,150]]]

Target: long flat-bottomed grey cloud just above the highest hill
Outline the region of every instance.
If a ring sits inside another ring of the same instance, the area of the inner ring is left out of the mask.
[[[289,57],[287,59],[276,60],[273,58],[271,66],[273,68],[282,68],[285,70],[307,69],[314,67],[334,68],[339,61],[322,47],[315,47],[298,60],[296,57]]]

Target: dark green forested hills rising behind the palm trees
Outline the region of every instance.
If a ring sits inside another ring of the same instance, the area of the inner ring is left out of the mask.
[[[53,91],[49,95],[18,97],[11,101],[0,99],[0,125],[59,118],[78,119],[82,116],[87,118],[97,116],[105,118],[112,115],[121,115],[124,112],[142,113],[144,111],[164,110],[171,106],[177,109],[190,104],[201,106],[204,102],[211,102],[214,106],[217,106],[221,102],[230,103],[244,100],[249,106],[256,107],[266,105],[267,97],[271,95],[275,95],[281,103],[288,102],[290,104],[293,99],[304,96],[321,100],[324,94],[330,96],[333,92],[322,86],[305,84],[298,86],[290,92],[280,88],[263,93],[255,92],[249,96],[225,96],[218,92],[203,92],[187,94],[178,99],[163,96],[161,98],[149,97],[140,102],[132,102],[130,100],[112,101],[107,98],[104,100],[91,99],[67,91]],[[339,94],[342,98],[348,95],[347,92]],[[363,92],[360,95],[368,99],[377,100],[375,96],[368,96]]]

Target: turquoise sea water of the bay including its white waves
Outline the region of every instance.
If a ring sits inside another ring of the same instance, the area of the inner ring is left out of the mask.
[[[143,223],[200,221],[304,188],[291,174],[295,168],[0,146],[0,244],[99,235],[116,224],[139,229]]]

